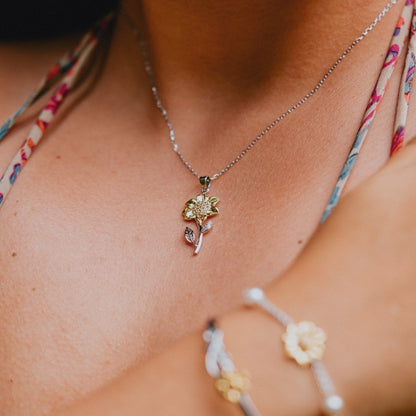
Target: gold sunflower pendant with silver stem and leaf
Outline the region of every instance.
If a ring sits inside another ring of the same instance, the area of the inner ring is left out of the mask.
[[[197,235],[189,227],[185,228],[184,233],[185,240],[195,247],[194,254],[199,253],[204,234],[212,228],[212,222],[205,221],[208,217],[218,214],[217,203],[220,201],[215,196],[207,196],[211,182],[208,176],[199,178],[199,182],[202,185],[201,194],[186,202],[185,209],[182,212],[186,221],[195,221],[197,225]]]

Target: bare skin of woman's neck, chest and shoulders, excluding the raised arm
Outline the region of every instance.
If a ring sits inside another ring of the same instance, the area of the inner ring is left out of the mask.
[[[227,2],[230,9],[186,3],[149,1],[144,10],[163,100],[201,174],[222,168],[304,95],[384,7],[380,0],[297,2],[300,10],[276,1]],[[198,184],[169,147],[135,39],[118,22],[100,81],[71,111],[62,109],[0,212],[7,414],[47,414],[95,390],[289,266],[319,221],[401,5],[317,97],[214,184],[221,213],[198,258],[183,241],[181,218]],[[128,4],[138,19],[136,6]],[[287,30],[276,30],[288,20]],[[38,45],[40,56],[33,45],[24,53],[2,45],[10,65],[0,68],[0,87],[10,88],[12,76],[16,87],[0,114],[20,104],[71,41]],[[398,71],[349,189],[387,160],[399,78]],[[2,144],[2,166],[28,126]],[[407,132],[416,133],[414,122]]]

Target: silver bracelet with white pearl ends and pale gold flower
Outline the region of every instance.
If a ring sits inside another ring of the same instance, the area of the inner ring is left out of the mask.
[[[293,319],[270,302],[259,288],[246,290],[244,298],[247,305],[258,305],[286,328],[282,336],[286,354],[299,365],[311,367],[324,397],[323,410],[326,414],[338,414],[344,407],[344,401],[336,394],[331,377],[321,361],[325,351],[325,332],[313,322],[294,323]]]

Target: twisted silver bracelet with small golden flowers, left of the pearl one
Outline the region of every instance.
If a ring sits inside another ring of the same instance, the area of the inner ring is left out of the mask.
[[[238,403],[246,416],[261,416],[247,390],[250,380],[245,372],[237,371],[224,345],[224,333],[214,321],[208,323],[203,335],[207,345],[205,368],[214,378],[215,388],[231,403]]]

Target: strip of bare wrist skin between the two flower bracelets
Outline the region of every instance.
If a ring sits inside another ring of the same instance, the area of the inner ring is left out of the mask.
[[[219,327],[234,364],[250,374],[249,393],[262,414],[320,414],[322,403],[312,373],[286,358],[282,327],[262,311],[248,309],[223,317]]]

